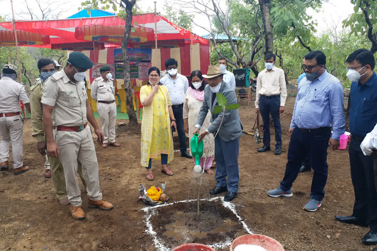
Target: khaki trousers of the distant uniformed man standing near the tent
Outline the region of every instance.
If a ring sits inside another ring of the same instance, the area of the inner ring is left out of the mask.
[[[97,111],[101,118],[104,143],[115,142],[116,104],[97,103]]]

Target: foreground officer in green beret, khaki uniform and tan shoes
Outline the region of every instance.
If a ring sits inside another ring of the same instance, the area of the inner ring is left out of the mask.
[[[89,207],[111,210],[113,205],[102,199],[98,162],[88,122],[102,144],[104,134],[94,119],[86,96],[83,79],[92,68],[90,59],[79,51],[68,56],[62,71],[55,73],[42,87],[43,128],[47,139],[47,154],[59,157],[64,169],[70,212],[73,218],[85,219],[81,192],[77,180],[78,161],[86,182]]]

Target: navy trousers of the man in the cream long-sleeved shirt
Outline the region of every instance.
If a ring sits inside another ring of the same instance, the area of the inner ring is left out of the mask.
[[[259,98],[259,110],[263,119],[263,145],[269,147],[271,136],[269,133],[269,114],[272,116],[273,127],[275,127],[275,147],[281,147],[281,125],[280,125],[280,97],[266,98],[263,95]]]

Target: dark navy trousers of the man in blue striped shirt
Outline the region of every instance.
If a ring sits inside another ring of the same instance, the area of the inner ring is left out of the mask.
[[[309,148],[310,164],[314,170],[310,197],[317,201],[323,200],[323,189],[327,182],[327,147],[330,135],[329,127],[323,128],[321,132],[303,132],[299,128],[293,130],[288,148],[288,162],[280,188],[291,189]]]

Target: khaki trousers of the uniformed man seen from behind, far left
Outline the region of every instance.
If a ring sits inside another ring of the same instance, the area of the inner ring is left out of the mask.
[[[0,117],[0,163],[9,158],[9,146],[12,142],[13,168],[24,166],[22,135],[24,119],[21,115],[12,117]]]

